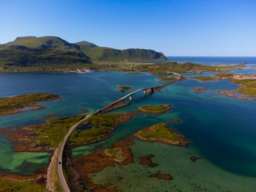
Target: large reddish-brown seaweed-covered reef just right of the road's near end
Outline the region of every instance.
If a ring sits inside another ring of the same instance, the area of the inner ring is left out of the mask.
[[[128,148],[131,145],[133,145],[133,141],[129,137],[122,141],[117,141],[112,148],[97,150],[87,156],[74,158],[71,160],[71,165],[79,172],[79,177],[82,178],[87,189],[93,191],[119,191],[116,188],[92,183],[89,174],[100,172],[108,166],[115,166],[115,164],[122,166],[133,163],[133,154]],[[68,174],[68,177],[73,177],[73,174]],[[119,176],[119,179],[121,180],[123,177]]]

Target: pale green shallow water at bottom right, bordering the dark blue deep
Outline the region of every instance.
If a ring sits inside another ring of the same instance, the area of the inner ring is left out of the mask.
[[[194,148],[179,148],[160,143],[135,141],[131,147],[134,164],[104,168],[91,174],[98,184],[111,183],[122,191],[255,191],[255,178],[238,177],[226,172],[209,161],[191,162],[191,155],[198,155]],[[154,154],[152,159],[159,166],[148,168],[139,164],[139,157]],[[171,174],[172,181],[161,181],[148,177],[156,172]],[[119,177],[123,177],[120,181]]]

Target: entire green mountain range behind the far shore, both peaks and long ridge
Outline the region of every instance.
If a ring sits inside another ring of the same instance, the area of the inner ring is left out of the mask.
[[[112,49],[91,42],[69,43],[56,36],[25,36],[0,44],[0,64],[22,67],[57,66],[93,61],[164,61],[162,53],[147,49]]]

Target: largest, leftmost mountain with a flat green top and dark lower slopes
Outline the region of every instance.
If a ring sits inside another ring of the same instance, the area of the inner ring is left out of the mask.
[[[22,67],[90,63],[80,46],[56,36],[18,37],[0,46],[0,63]]]

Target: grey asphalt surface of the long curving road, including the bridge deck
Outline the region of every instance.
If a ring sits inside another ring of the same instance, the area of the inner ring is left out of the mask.
[[[173,72],[168,72],[168,73],[173,73]],[[178,78],[181,78],[181,75],[179,73],[173,73],[174,75],[178,75]],[[172,83],[172,82],[171,82]],[[169,83],[166,83],[164,84],[165,86],[168,86],[170,84]],[[164,87],[164,85],[162,85]],[[156,87],[159,87],[159,86],[156,86]],[[154,88],[154,87],[152,87]],[[124,98],[127,98],[137,92],[140,92],[142,90],[148,90],[148,89],[152,89],[152,88],[142,88],[142,89],[139,89],[139,90],[135,90],[134,92],[131,92],[129,94],[127,94],[126,96],[123,96],[122,98],[120,98],[119,100],[116,100],[115,102],[111,103],[111,104],[108,104],[107,106],[105,106],[104,108],[107,108],[108,106],[111,106],[117,102],[119,102],[120,100],[123,100]],[[86,119],[92,117],[92,115],[96,115],[97,113],[99,113],[101,110],[103,110],[104,108],[101,108],[100,110],[97,110],[97,112],[95,113],[92,113],[91,115],[87,115],[84,119],[80,120],[79,122],[75,123],[75,125],[73,125],[70,129],[69,129],[69,132],[67,132],[67,135],[65,135],[62,143],[61,143],[61,146],[59,148],[59,154],[58,154],[58,174],[59,174],[59,181],[61,182],[61,187],[63,189],[64,192],[70,192],[70,189],[69,189],[69,186],[67,185],[67,181],[65,179],[65,176],[63,174],[63,166],[62,166],[62,157],[63,157],[63,151],[64,151],[64,148],[65,148],[65,144],[67,142],[67,139],[69,139],[69,136],[71,135],[71,133],[75,130],[75,128],[80,125],[82,122],[86,121]]]

